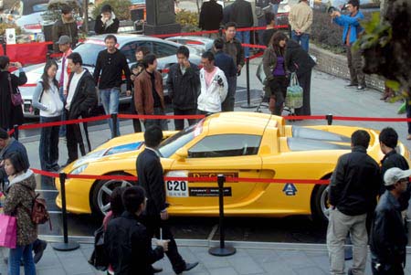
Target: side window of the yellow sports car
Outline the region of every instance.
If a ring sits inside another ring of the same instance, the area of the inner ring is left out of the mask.
[[[218,134],[207,136],[188,150],[189,158],[226,157],[258,153],[260,135]]]

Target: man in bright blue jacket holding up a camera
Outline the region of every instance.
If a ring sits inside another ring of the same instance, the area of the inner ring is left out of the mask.
[[[332,22],[339,26],[343,26],[342,43],[347,47],[348,68],[350,69],[350,84],[347,88],[357,87],[357,90],[365,89],[365,77],[363,72],[363,62],[361,52],[353,50],[353,43],[358,39],[363,27],[360,21],[364,19],[364,15],[360,12],[359,0],[348,1],[345,8],[350,13],[349,16],[342,15],[335,8],[330,8],[329,12],[332,16]]]

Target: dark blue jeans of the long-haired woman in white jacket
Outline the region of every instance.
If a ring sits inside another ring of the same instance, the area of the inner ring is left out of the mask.
[[[61,116],[40,117],[40,123],[59,122]],[[40,145],[38,154],[40,156],[41,169],[44,171],[58,171],[58,131],[60,126],[41,128]],[[49,182],[51,178],[41,176],[41,183]]]

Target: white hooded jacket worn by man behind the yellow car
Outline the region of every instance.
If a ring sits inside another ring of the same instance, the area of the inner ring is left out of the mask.
[[[216,73],[210,86],[205,85],[205,69],[200,70],[201,93],[197,100],[197,109],[207,112],[221,111],[221,103],[226,100],[228,84],[224,71],[216,67]]]

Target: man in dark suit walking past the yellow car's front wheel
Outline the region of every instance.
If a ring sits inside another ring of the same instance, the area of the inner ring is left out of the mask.
[[[148,198],[142,223],[147,227],[147,235],[150,238],[154,235],[157,237],[163,235],[164,239],[170,240],[166,255],[170,259],[174,272],[180,274],[183,271],[194,269],[198,262],[186,263],[184,261],[178,253],[173,233],[166,223],[168,212],[165,202],[163,166],[160,162],[160,153],[157,151],[162,140],[163,132],[159,126],[148,127],[144,132],[145,150],[137,157],[136,169],[139,185],[144,188]],[[163,234],[159,234],[160,230]]]

